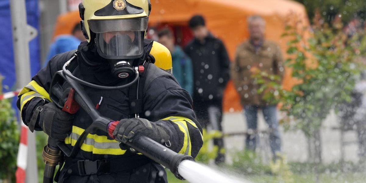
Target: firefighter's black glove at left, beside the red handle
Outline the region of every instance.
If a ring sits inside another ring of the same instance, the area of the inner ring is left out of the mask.
[[[51,138],[64,140],[72,130],[73,115],[61,111],[53,102],[45,104],[40,112],[39,125]]]

